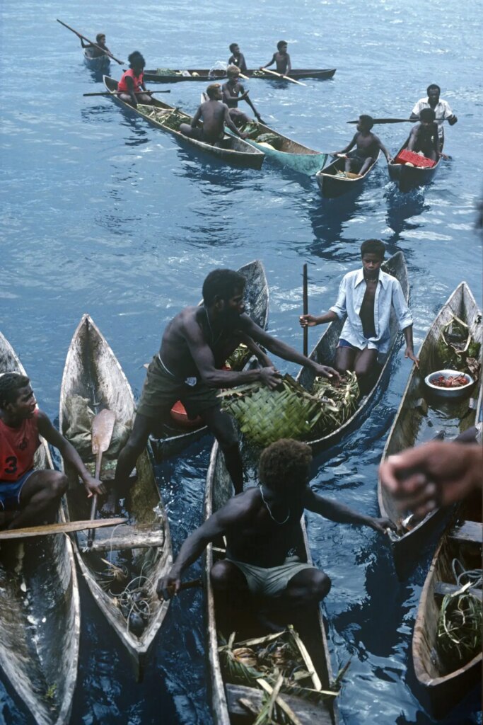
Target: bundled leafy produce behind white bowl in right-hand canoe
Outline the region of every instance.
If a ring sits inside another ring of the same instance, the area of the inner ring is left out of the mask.
[[[471,335],[469,326],[453,316],[442,328],[437,342],[441,367],[469,373],[476,380],[479,377],[481,347]]]

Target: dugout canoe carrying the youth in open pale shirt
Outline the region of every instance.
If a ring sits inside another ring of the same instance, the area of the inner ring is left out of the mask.
[[[396,252],[396,254],[393,254],[393,256],[387,260],[387,262],[384,262],[384,264],[382,265],[382,270],[391,274],[398,280],[400,286],[403,289],[403,294],[406,302],[408,302],[408,268],[406,267],[406,260],[404,259],[403,252]],[[316,362],[320,363],[321,365],[334,365],[335,350],[337,348],[337,342],[339,341],[340,334],[344,326],[344,321],[345,320],[333,320],[333,322],[327,325],[324,334],[317,342],[311,354],[308,356],[311,358],[311,360],[316,360]],[[322,436],[322,438],[307,441],[307,443],[310,444],[313,448],[314,452],[327,450],[343,436],[348,434],[348,432],[350,432],[354,428],[356,423],[360,424],[364,414],[369,411],[369,407],[371,405],[372,399],[374,398],[374,395],[382,386],[382,381],[383,378],[385,378],[385,373],[389,369],[392,352],[394,352],[395,350],[398,337],[398,320],[396,319],[394,310],[392,310],[390,318],[390,346],[384,360],[382,360],[382,363],[379,365],[379,375],[377,376],[377,381],[375,381],[371,391],[364,398],[361,399],[354,413],[350,416],[350,418],[347,419],[347,421],[345,421],[345,423],[343,423],[342,426],[336,428],[335,431],[332,431],[332,433],[329,433],[326,436]],[[314,377],[315,376],[312,370],[309,370],[308,368],[301,368],[296,379],[298,383],[300,383],[306,390],[311,390],[314,384]]]

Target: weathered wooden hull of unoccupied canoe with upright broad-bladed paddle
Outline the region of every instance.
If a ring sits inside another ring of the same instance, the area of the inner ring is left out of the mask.
[[[128,431],[132,427],[135,415],[133,392],[114,352],[89,315],[83,315],[80,320],[67,352],[59,411],[59,426],[63,434],[67,433],[70,426],[70,399],[74,395],[87,398],[95,412],[104,408],[114,410],[117,423],[125,426]],[[85,458],[85,454],[83,457]],[[109,457],[108,451],[103,457],[103,467],[109,461]],[[154,588],[159,578],[164,576],[171,566],[172,547],[169,523],[156,485],[153,461],[148,448],[138,458],[136,470],[137,480],[127,496],[127,510],[133,526],[128,527],[127,531],[131,532],[132,542],[140,542],[143,535],[151,540],[157,538],[161,542],[158,546],[151,543],[146,547],[140,543],[139,548],[133,543],[126,544],[126,551],[132,552],[133,568],[138,573],[142,571],[143,576],[152,582],[145,584],[151,596],[151,617],[139,637],[130,631],[125,616],[116,606],[117,602],[114,602],[108,592],[101,587],[94,568],[94,565],[98,565],[98,558],[85,551],[86,531],[75,534],[75,554],[86,584],[109,625],[125,645],[133,662],[135,675],[139,678],[148,650],[167,613],[169,602],[159,602]],[[67,468],[66,473],[70,479],[70,489],[67,492],[70,520],[90,518],[91,502],[85,496],[83,487],[79,486],[76,472]],[[101,476],[103,476],[102,471]],[[110,541],[111,545],[115,544],[115,537],[119,531],[122,537],[122,527],[98,529],[96,542],[101,539]],[[109,559],[112,554],[117,555],[120,551],[122,555],[125,551],[119,544],[112,545],[112,550],[109,552],[108,548],[101,553],[101,556]],[[113,563],[115,561],[113,560]],[[136,574],[133,573],[132,576],[134,578]]]

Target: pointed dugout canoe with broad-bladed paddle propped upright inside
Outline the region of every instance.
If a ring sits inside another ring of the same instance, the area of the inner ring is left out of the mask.
[[[62,434],[71,439],[75,427],[72,410],[77,400],[74,396],[87,399],[93,413],[99,413],[105,408],[113,410],[116,423],[123,426],[126,437],[133,426],[135,415],[133,392],[114,352],[89,315],[83,315],[72,337],[62,377],[59,427]],[[85,437],[83,449],[79,447],[78,438],[72,439],[72,443],[86,465],[93,470],[93,458],[89,455],[89,430],[85,431]],[[119,447],[122,447],[122,443]],[[110,453],[109,450],[104,453],[101,480],[112,479],[116,459],[116,453]],[[159,601],[156,584],[169,571],[172,547],[169,523],[156,485],[151,452],[147,447],[138,458],[136,471],[137,480],[125,499],[129,525],[98,529],[89,550],[86,547],[88,532],[79,531],[74,537],[74,549],[80,571],[94,600],[126,647],[135,675],[140,679],[148,650],[167,613],[168,602]],[[77,473],[68,466],[66,473],[70,484],[67,492],[70,521],[90,518],[91,500],[86,497],[83,486],[80,486]],[[122,582],[114,581],[113,566],[125,570]],[[140,599],[146,601],[147,605],[135,602],[140,589],[143,590]],[[148,612],[147,621],[140,623],[137,617],[139,610]],[[142,631],[137,629],[139,624]]]

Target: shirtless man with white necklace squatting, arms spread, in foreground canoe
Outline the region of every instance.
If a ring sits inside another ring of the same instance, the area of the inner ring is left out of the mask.
[[[311,460],[306,443],[282,439],[269,445],[260,457],[259,486],[230,499],[186,539],[171,571],[159,580],[159,597],[178,592],[183,571],[222,536],[226,557],[214,564],[210,578],[232,609],[253,609],[266,626],[274,614],[286,624],[327,596],[327,574],[298,557],[304,509],[380,533],[392,524],[315,494],[308,484]]]

